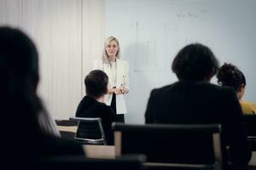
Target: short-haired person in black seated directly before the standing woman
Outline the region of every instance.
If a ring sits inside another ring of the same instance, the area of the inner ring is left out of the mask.
[[[111,124],[116,121],[116,114],[103,103],[104,95],[108,92],[108,76],[100,70],[90,71],[84,79],[84,85],[87,95],[79,103],[76,116],[101,117],[107,144],[113,144]]]

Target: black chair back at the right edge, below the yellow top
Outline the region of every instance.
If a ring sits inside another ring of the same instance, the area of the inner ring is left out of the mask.
[[[256,150],[256,115],[244,114],[243,120],[246,123],[247,139],[252,146],[252,150]]]

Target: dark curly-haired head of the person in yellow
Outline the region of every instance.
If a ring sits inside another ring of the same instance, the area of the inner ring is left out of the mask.
[[[222,65],[217,72],[218,84],[222,86],[230,86],[234,88],[236,92],[239,88],[246,86],[246,78],[243,73],[235,66],[231,64]]]

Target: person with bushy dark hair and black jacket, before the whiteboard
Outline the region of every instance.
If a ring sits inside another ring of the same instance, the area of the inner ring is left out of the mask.
[[[195,43],[182,48],[172,62],[178,81],[153,89],[145,113],[146,123],[221,124],[224,162],[246,166],[251,158],[241,106],[234,90],[210,83],[218,70],[212,50]],[[189,150],[188,150],[189,153]],[[183,153],[180,153],[183,154]]]

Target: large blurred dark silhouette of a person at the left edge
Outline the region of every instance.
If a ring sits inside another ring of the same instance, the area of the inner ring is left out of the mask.
[[[0,27],[0,77],[3,162],[15,166],[50,156],[84,156],[80,144],[57,137],[37,94],[37,48],[18,29]]]

